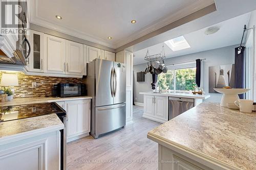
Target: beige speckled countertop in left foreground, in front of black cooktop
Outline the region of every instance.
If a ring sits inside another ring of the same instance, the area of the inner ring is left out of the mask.
[[[47,133],[64,128],[56,114],[48,114],[37,117],[11,120],[0,123],[0,144],[11,140],[22,140],[26,136],[36,133]]]

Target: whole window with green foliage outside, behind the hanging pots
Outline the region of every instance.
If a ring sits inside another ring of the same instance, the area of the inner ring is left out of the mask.
[[[160,90],[189,91],[196,87],[196,67],[171,69],[166,74],[158,75]]]

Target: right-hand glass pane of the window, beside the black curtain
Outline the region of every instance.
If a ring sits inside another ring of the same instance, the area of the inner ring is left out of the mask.
[[[176,69],[176,90],[194,90],[196,87],[196,68]]]

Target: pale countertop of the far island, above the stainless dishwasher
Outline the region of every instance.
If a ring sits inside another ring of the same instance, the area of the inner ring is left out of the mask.
[[[146,95],[161,95],[161,96],[173,96],[178,98],[191,98],[191,99],[208,99],[210,97],[209,94],[190,94],[190,93],[174,93],[174,92],[140,92],[140,94]]]

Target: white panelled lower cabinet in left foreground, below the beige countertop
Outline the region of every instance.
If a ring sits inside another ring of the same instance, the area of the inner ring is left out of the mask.
[[[0,145],[0,169],[60,169],[60,131]]]

